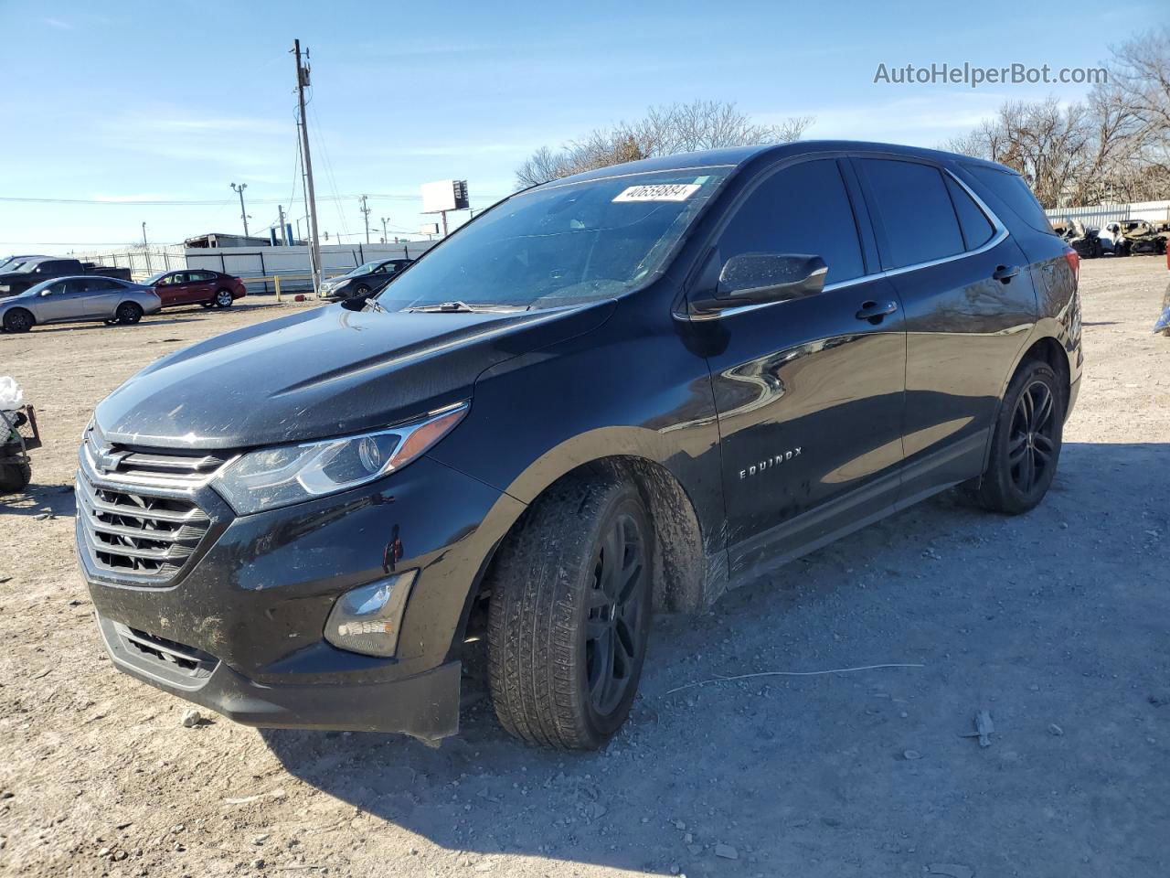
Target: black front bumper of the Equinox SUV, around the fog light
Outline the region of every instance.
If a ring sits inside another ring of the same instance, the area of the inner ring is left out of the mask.
[[[402,732],[459,727],[474,588],[523,505],[429,458],[374,486],[234,517],[209,488],[206,537],[174,577],[139,584],[78,561],[116,666],[245,725]],[[324,639],[337,597],[418,569],[398,654]]]

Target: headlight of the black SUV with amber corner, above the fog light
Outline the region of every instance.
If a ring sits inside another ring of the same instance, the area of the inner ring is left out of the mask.
[[[232,461],[212,486],[239,515],[300,503],[401,469],[467,413],[456,403],[425,418],[372,433],[261,448]]]

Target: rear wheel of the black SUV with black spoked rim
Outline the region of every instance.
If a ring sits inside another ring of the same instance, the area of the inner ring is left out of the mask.
[[[991,512],[1019,515],[1044,500],[1057,474],[1065,389],[1047,363],[1025,363],[1004,395],[987,469],[972,494]]]

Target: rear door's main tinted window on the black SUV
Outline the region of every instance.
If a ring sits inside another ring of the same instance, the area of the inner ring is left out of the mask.
[[[882,267],[904,268],[963,252],[958,218],[937,167],[875,158],[856,164],[882,233]]]

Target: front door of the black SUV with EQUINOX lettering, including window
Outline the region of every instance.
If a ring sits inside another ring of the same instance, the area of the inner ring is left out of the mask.
[[[765,177],[721,233],[741,253],[814,254],[819,295],[748,306],[710,321],[732,577],[827,542],[896,500],[906,334],[893,284],[875,276],[860,196],[834,158]],[[704,275],[706,276],[706,275]]]

